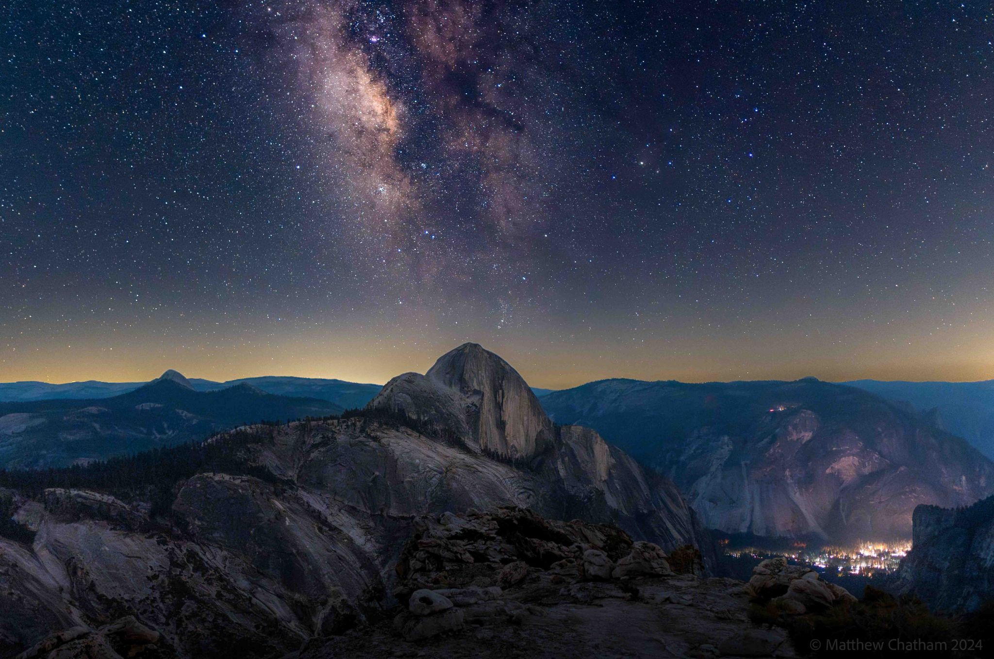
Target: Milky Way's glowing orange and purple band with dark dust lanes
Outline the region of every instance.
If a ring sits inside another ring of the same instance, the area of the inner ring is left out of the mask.
[[[522,10],[486,3],[269,9],[245,18],[269,36],[260,71],[293,81],[269,74],[296,91],[320,194],[350,223],[350,257],[371,267],[366,280],[389,269],[370,293],[386,286],[419,307],[433,293],[476,297],[499,324],[511,307],[540,308],[521,291],[557,251],[557,191],[578,174],[563,167],[580,158],[562,123],[583,129],[555,91],[577,72],[539,49],[564,61],[565,50]]]

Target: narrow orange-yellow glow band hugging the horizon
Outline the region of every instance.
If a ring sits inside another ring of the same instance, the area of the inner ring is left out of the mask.
[[[278,346],[232,342],[213,348],[166,350],[161,346],[120,343],[102,346],[65,346],[31,351],[9,351],[0,360],[0,382],[69,383],[146,382],[167,369],[188,378],[226,382],[260,376],[328,378],[346,382],[385,384],[402,373],[424,373],[442,354],[470,339],[431,341],[344,340],[321,345],[313,340],[286,341]],[[891,351],[851,351],[848,356],[790,357],[782,347],[780,359],[753,353],[749,359],[715,347],[698,355],[674,355],[672,350],[648,347],[516,343],[501,339],[477,341],[507,360],[532,386],[569,389],[610,379],[681,382],[734,380],[797,380],[816,377],[827,382],[884,380],[911,382],[980,382],[994,378],[994,351],[977,360],[953,360],[934,353],[913,358],[894,357]],[[989,343],[992,345],[994,342]],[[829,351],[826,351],[828,353]],[[862,352],[862,354],[861,354]],[[894,351],[900,353],[901,351]],[[887,361],[882,358],[889,357]],[[876,362],[875,365],[873,362]],[[863,366],[856,366],[863,365]]]

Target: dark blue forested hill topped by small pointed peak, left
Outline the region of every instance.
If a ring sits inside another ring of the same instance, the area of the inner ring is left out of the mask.
[[[0,403],[0,468],[46,468],[203,439],[261,420],[328,416],[342,406],[248,383],[198,392],[175,371],[118,396]]]

